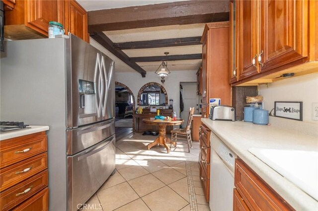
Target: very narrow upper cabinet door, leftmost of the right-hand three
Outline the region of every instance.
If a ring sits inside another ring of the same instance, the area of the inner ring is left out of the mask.
[[[230,1],[230,83],[238,81],[236,0]]]

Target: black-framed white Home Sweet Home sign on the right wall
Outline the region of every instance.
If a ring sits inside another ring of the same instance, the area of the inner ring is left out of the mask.
[[[303,102],[276,102],[275,116],[303,121]]]

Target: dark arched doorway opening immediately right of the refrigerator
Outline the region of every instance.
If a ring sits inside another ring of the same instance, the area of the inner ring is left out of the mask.
[[[116,117],[132,117],[132,112],[127,111],[135,110],[135,96],[129,87],[117,81],[115,81],[115,104]]]

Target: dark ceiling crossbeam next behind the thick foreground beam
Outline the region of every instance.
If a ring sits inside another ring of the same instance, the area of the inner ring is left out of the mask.
[[[184,37],[162,40],[147,40],[147,41],[135,41],[125,43],[114,43],[114,48],[117,50],[127,49],[152,49],[163,47],[175,47],[175,46],[193,46],[201,45],[201,37]]]

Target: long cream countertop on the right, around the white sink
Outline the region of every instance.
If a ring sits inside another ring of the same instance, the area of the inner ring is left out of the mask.
[[[242,121],[212,121],[208,118],[201,121],[295,210],[318,210],[314,198],[248,152],[250,148],[317,152],[317,136]]]

